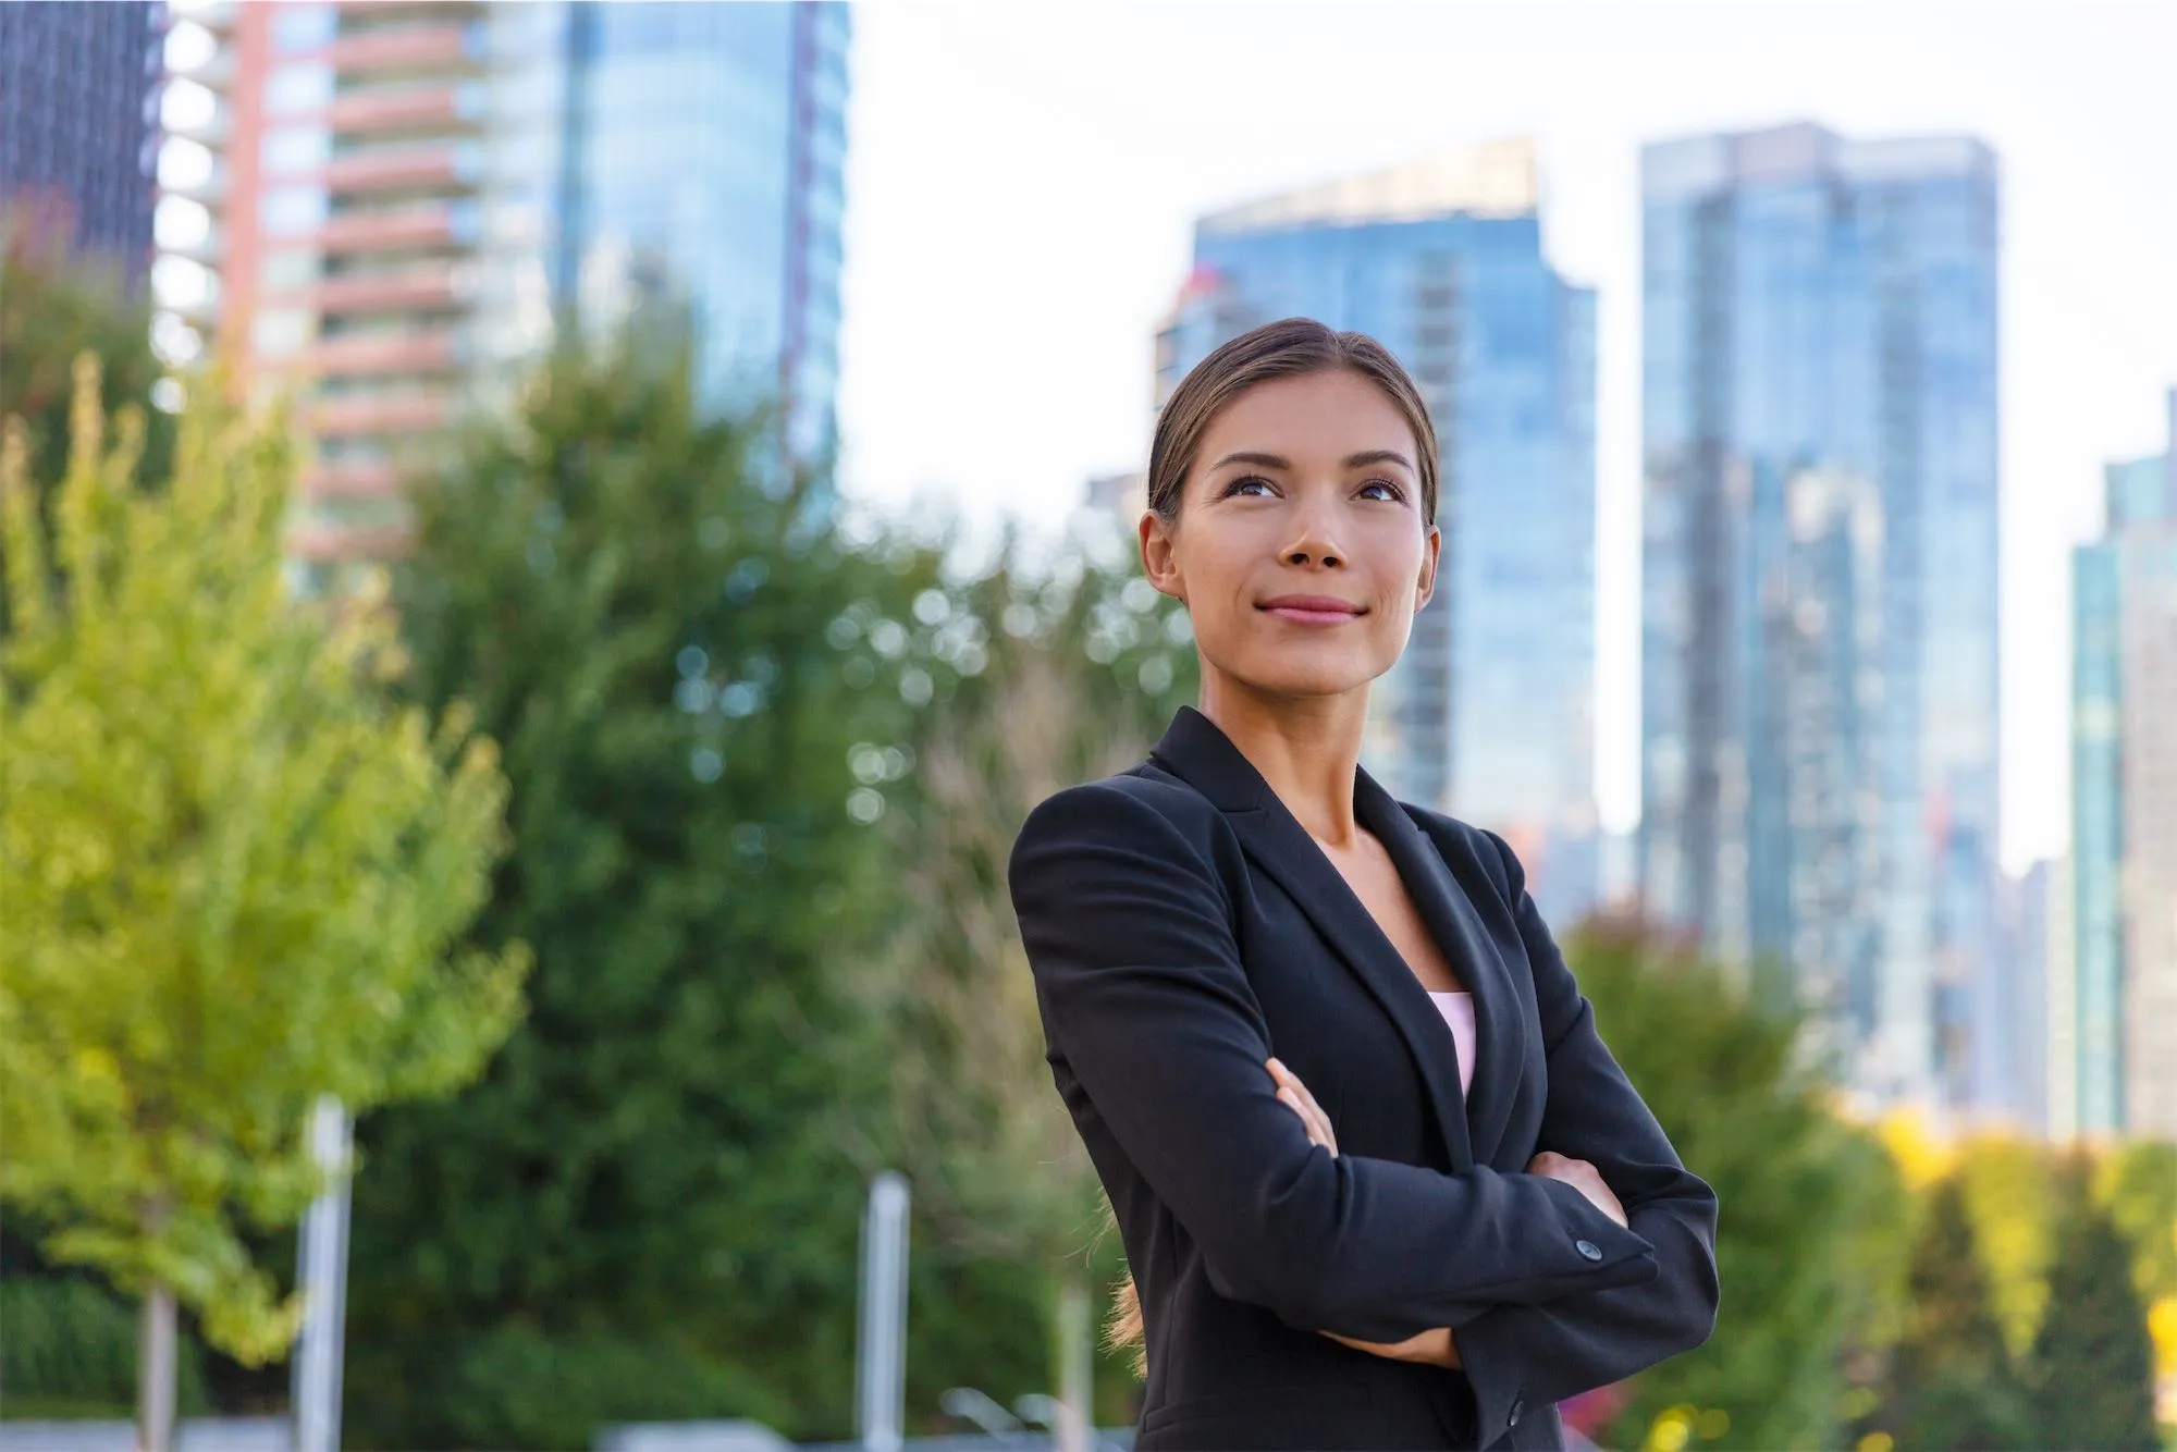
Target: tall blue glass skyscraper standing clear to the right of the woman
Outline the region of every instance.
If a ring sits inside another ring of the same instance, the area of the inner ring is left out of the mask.
[[[1641,893],[1789,964],[1859,1088],[1966,1099],[1994,953],[1996,159],[1798,124],[1648,146],[1641,185]]]

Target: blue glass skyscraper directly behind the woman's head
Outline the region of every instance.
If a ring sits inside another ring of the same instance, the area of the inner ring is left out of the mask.
[[[1287,316],[1413,372],[1443,470],[1437,596],[1378,686],[1363,760],[1393,795],[1502,832],[1552,916],[1596,899],[1594,292],[1543,257],[1533,148],[1500,144],[1265,198],[1195,226],[1158,405]]]

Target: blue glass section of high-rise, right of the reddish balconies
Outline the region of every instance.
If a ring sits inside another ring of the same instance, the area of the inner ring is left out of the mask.
[[[492,9],[488,357],[573,309],[666,298],[705,398],[786,401],[792,453],[836,429],[845,4]]]

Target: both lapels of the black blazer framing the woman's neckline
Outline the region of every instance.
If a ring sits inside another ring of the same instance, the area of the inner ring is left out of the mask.
[[[1509,1075],[1524,1060],[1524,1045],[1513,1038],[1520,1023],[1513,1012],[1517,999],[1474,903],[1406,808],[1376,777],[1354,768],[1354,816],[1385,845],[1437,947],[1474,995],[1478,1045],[1472,1095],[1459,1093],[1459,1054],[1428,990],[1232,738],[1202,712],[1182,705],[1149,760],[1226,814],[1245,853],[1300,903],[1398,1025],[1428,1088],[1452,1167],[1489,1162],[1515,1088]]]

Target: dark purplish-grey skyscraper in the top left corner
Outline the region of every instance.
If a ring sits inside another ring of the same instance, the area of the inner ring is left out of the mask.
[[[150,266],[161,7],[0,4],[0,207],[65,209],[74,244]]]

